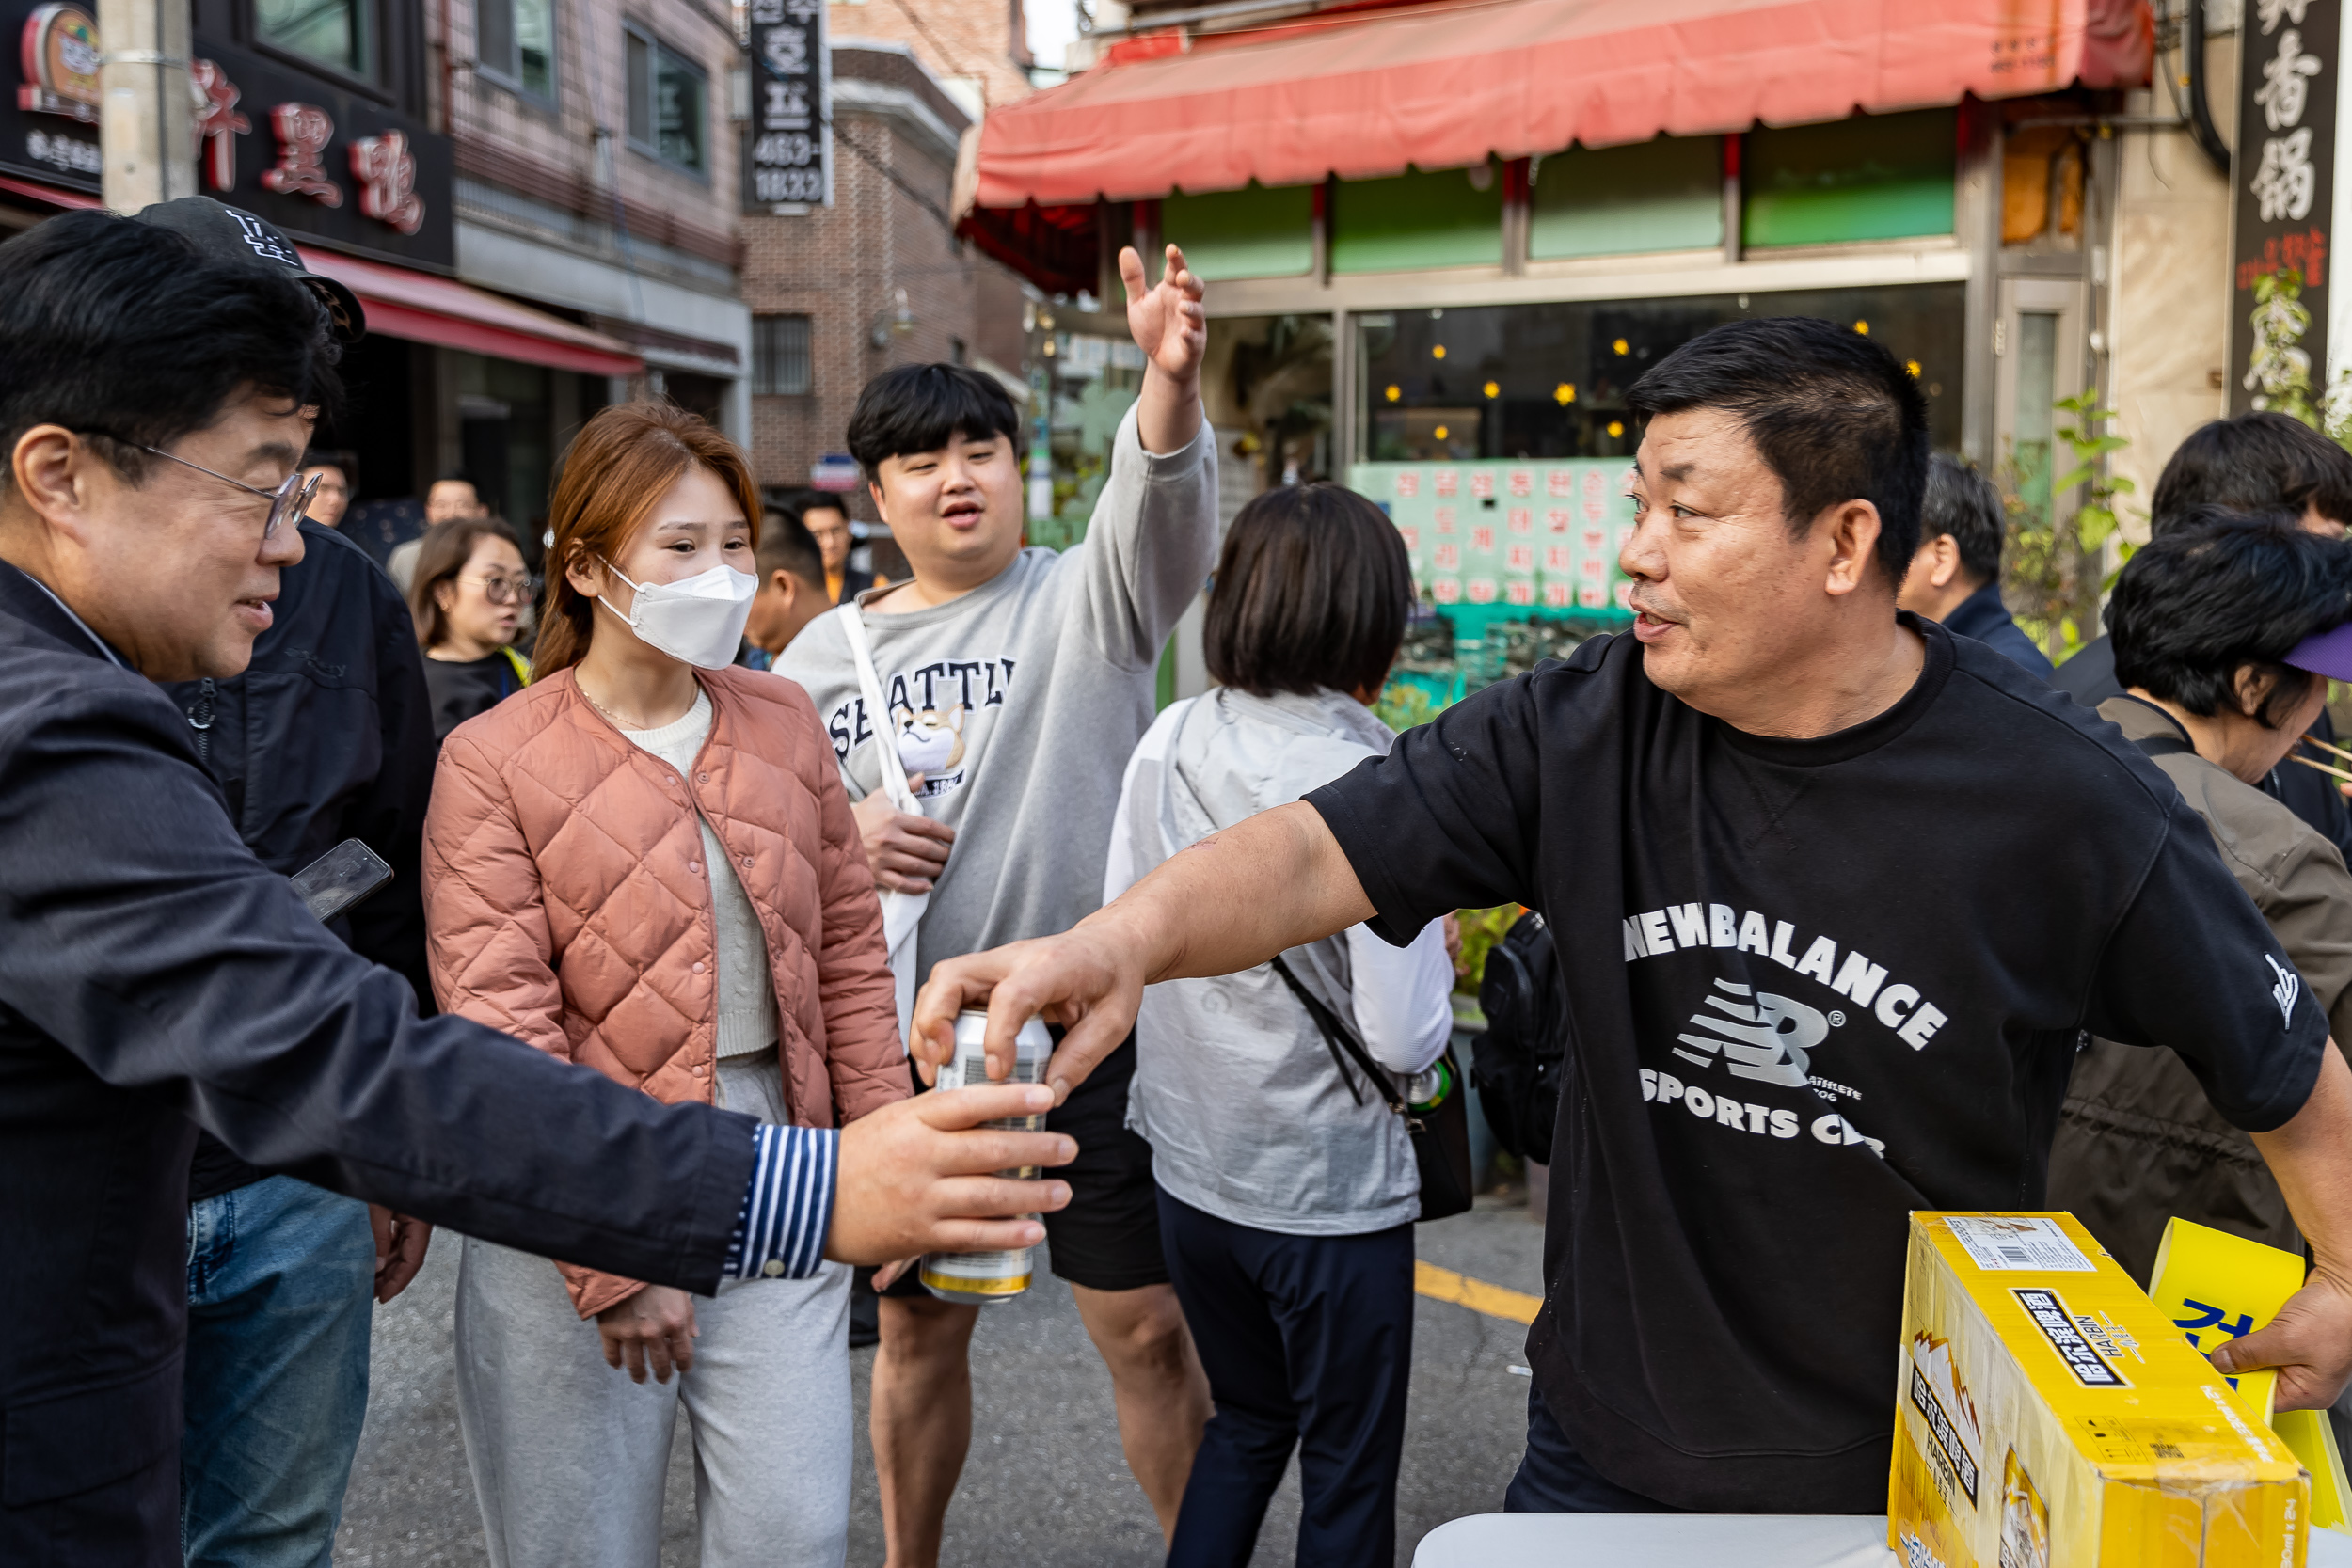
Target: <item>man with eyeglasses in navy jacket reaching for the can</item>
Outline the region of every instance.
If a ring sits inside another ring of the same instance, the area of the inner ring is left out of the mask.
[[[219,1241],[191,1255],[198,1128],[259,1171],[706,1293],[821,1255],[1040,1241],[1016,1215],[1068,1190],[993,1173],[1063,1164],[1068,1140],[976,1124],[1042,1112],[1042,1088],[842,1131],[661,1105],[419,1020],[412,983],[254,856],[240,827],[275,780],[223,780],[209,750],[249,665],[254,712],[275,682],[355,675],[299,642],[289,569],[339,548],[299,527],[296,463],[365,320],[252,214],[141,219],[73,212],[0,244],[0,1561],[181,1563],[188,1274]],[[158,689],[181,682],[214,708]],[[306,1465],[308,1441],[259,1439],[249,1474]],[[228,1556],[327,1556],[299,1549]]]

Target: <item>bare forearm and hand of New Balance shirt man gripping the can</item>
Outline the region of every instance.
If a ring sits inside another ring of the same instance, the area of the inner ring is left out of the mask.
[[[1028,1018],[1070,1025],[1047,1081],[1056,1098],[1110,1056],[1155,980],[1237,969],[1345,931],[1374,907],[1315,806],[1294,802],[1214,832],[1063,936],[993,947],[931,969],[915,997],[924,1077],[955,1051],[955,1013],[988,1006],[988,1074],[1011,1072]]]

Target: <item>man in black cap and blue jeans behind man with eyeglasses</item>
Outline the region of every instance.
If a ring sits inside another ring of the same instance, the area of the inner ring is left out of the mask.
[[[148,207],[139,221],[238,266],[301,273],[275,228],[205,197]],[[301,280],[341,343],[365,331],[343,284]],[[435,748],[416,630],[365,550],[310,517],[301,543],[301,559],[278,574],[247,672],[165,691],[256,860],[292,877],[360,839],[393,867],[390,884],[327,929],[402,976],[430,1016],[419,835]],[[374,1302],[407,1288],[428,1237],[421,1220],[270,1175],[198,1133],[179,1448],[188,1568],[329,1559],[367,1418]]]

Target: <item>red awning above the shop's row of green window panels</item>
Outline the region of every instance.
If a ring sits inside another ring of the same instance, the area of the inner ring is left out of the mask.
[[[1494,0],[1120,45],[993,108],[978,207],[1374,179],[2147,80],[2145,0]],[[1152,56],[1157,54],[1157,56]],[[1145,59],[1138,59],[1145,56]]]

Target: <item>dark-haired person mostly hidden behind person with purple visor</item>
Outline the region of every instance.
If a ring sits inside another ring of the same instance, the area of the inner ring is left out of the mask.
[[[2345,536],[2352,522],[2352,451],[2286,414],[2239,414],[2216,418],[2190,433],[2157,477],[2150,503],[2150,538],[2164,538],[2201,505],[2234,512],[2284,510],[2296,524],[2319,538]],[[2058,691],[2084,708],[2098,708],[2124,686],[2114,677],[2114,644],[2093,637],[2058,665],[2051,677]],[[2336,722],[2326,708],[2310,726],[2326,745],[2336,743]],[[2298,743],[2291,752],[2328,762],[2319,745]],[[2340,853],[2352,856],[2352,811],[2343,790],[2326,773],[2300,764],[2281,764],[2263,778],[2263,792],[2317,827]]]

